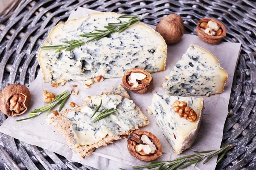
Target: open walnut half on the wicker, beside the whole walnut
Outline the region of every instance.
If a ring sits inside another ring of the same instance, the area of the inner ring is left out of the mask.
[[[204,42],[218,44],[226,36],[226,28],[218,20],[203,18],[197,24],[196,33]]]

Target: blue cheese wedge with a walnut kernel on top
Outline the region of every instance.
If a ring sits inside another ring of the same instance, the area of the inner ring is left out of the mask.
[[[183,101],[197,114],[194,122],[180,117],[173,110],[175,101]],[[191,147],[197,136],[204,110],[204,99],[195,97],[167,96],[154,94],[148,112],[153,113],[157,125],[171,144],[174,152],[180,154]]]

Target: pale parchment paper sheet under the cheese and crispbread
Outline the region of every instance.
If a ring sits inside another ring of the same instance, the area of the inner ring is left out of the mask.
[[[69,19],[82,17],[92,12],[92,10],[86,8],[78,8],[77,11],[73,11],[70,14]],[[184,151],[180,156],[192,154],[194,150],[213,150],[220,147],[224,122],[228,113],[227,106],[230,98],[233,75],[236,69],[241,46],[240,43],[231,42],[221,42],[218,45],[211,45],[200,40],[198,36],[184,34],[178,43],[168,45],[166,71],[152,74],[154,79],[154,91],[158,91],[159,94],[165,94],[165,90],[162,88],[162,82],[165,81],[164,76],[170,73],[176,62],[181,59],[190,44],[199,45],[214,54],[219,59],[221,66],[227,71],[229,78],[225,86],[225,91],[222,94],[212,95],[208,98],[203,96],[205,99],[205,110],[198,136],[192,147]],[[43,89],[57,95],[62,93],[64,90],[69,89],[72,85],[78,85],[76,89],[79,89],[79,95],[71,95],[70,99],[64,106],[65,109],[70,108],[68,104],[70,101],[73,101],[78,105],[82,105],[82,98],[90,95],[99,95],[102,92],[108,91],[112,86],[116,87],[117,85],[122,84],[122,78],[105,79],[104,82],[94,83],[91,85],[91,88],[88,89],[84,89],[82,87],[83,83],[84,82],[67,82],[64,86],[60,85],[58,88],[53,88],[50,83],[43,82],[42,73],[40,71],[38,77],[29,86],[29,90],[32,95],[32,102],[27,113],[32,111],[34,108],[41,108],[46,105],[43,102]],[[154,133],[162,144],[163,155],[157,159],[157,161],[167,161],[175,159],[178,156],[173,153],[172,147],[163,136],[163,133],[157,126],[153,116],[149,115],[147,111],[145,111],[151,104],[154,91],[146,94],[134,94],[130,92],[130,95],[151,122],[148,127],[143,127],[142,129]],[[56,107],[55,110],[58,110],[58,108]],[[47,124],[46,113],[42,113],[34,119],[16,122],[17,119],[25,117],[27,117],[26,113],[18,117],[9,117],[1,125],[0,132],[23,142],[51,150],[69,160],[95,167],[100,170],[116,170],[119,167],[130,170],[132,166],[146,164],[135,159],[130,155],[130,153],[128,153],[126,139],[116,141],[113,144],[109,144],[107,147],[98,148],[92,156],[81,159],[75,152],[67,147],[64,137],[58,133],[55,127]],[[198,164],[196,168],[203,170],[207,167],[207,170],[214,170],[216,166],[216,159],[217,157],[214,157],[205,165]],[[188,169],[194,169],[194,167],[191,166],[188,167]]]

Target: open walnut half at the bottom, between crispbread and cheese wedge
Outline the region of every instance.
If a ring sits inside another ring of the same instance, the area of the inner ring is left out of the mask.
[[[139,149],[139,145],[148,145],[142,141],[143,136],[147,137],[153,143],[155,147],[154,152],[145,153],[144,150]],[[131,133],[127,140],[127,148],[131,155],[141,161],[154,161],[162,155],[162,146],[157,136],[145,130],[135,130]]]

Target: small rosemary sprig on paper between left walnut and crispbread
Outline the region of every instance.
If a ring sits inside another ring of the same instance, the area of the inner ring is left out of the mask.
[[[47,111],[47,116],[49,114],[49,112],[52,110],[52,108],[54,108],[56,105],[60,105],[59,110],[61,111],[61,109],[63,108],[65,102],[67,101],[67,99],[69,98],[70,94],[71,94],[72,90],[66,90],[64,91],[62,94],[59,94],[55,97],[54,100],[52,100],[52,102],[49,102],[49,105],[44,106],[42,108],[39,109],[35,109],[34,111],[30,112],[28,114],[29,117],[24,118],[24,119],[19,119],[16,120],[17,122],[23,121],[23,120],[27,120],[27,119],[32,119],[36,116],[39,116],[41,113]]]

